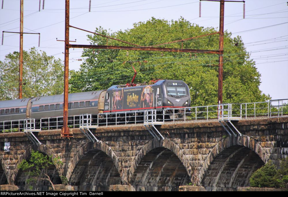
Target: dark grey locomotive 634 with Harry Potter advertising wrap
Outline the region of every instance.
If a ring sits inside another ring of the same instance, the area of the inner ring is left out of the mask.
[[[190,104],[187,84],[181,80],[160,80],[147,86],[110,87],[106,91],[103,112],[189,107]]]

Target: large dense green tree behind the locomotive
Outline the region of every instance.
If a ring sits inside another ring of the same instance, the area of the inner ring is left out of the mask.
[[[176,21],[152,18],[134,24],[134,28],[111,32],[101,27],[95,32],[128,41],[141,46],[195,37],[217,32],[214,28],[204,28],[191,24],[184,18]],[[98,35],[88,35],[91,45],[121,45],[115,40],[107,41]],[[108,43],[107,43],[108,42]],[[219,35],[214,34],[158,47],[218,50]],[[129,55],[127,55],[129,53]],[[106,89],[115,84],[130,82],[137,70],[135,82],[149,82],[153,79],[183,80],[190,87],[191,105],[214,105],[217,103],[218,55],[190,54],[168,51],[125,51],[84,49],[85,58],[79,71],[71,74],[70,91],[91,91]],[[269,99],[269,95],[259,90],[260,74],[255,62],[249,60],[240,36],[224,35],[223,102],[255,102]],[[139,63],[141,62],[141,64]]]

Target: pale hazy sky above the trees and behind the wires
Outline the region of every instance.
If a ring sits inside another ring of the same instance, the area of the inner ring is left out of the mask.
[[[64,60],[65,0],[24,0],[23,49],[36,47],[48,55]],[[133,23],[151,17],[178,20],[183,17],[203,27],[219,29],[219,2],[199,0],[70,0],[70,25],[94,32],[96,27],[112,32],[133,28]],[[288,5],[287,0],[246,0],[245,19],[242,2],[226,2],[224,30],[232,37],[241,36],[250,59],[261,74],[260,90],[272,99],[288,98]],[[0,31],[20,31],[20,0],[3,0],[0,9]],[[87,32],[70,28],[69,40],[87,45]],[[0,61],[5,55],[19,51],[19,34],[4,33],[0,45]],[[225,46],[224,46],[225,50]],[[78,70],[82,49],[70,49],[69,69]],[[224,65],[225,66],[225,65]],[[3,73],[0,73],[2,75]],[[5,73],[4,73],[5,74]],[[237,87],[235,87],[237,88]]]

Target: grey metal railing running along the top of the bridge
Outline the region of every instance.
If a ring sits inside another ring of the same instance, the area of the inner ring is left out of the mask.
[[[108,126],[119,124],[137,124],[144,121],[199,121],[199,120],[235,120],[256,118],[257,116],[281,117],[288,115],[288,99],[270,100],[255,103],[225,103],[197,107],[148,109],[116,113],[84,114],[68,117],[69,128],[81,126]],[[63,127],[63,116],[35,119],[35,129],[52,130]],[[22,132],[24,119],[0,121],[0,132]]]

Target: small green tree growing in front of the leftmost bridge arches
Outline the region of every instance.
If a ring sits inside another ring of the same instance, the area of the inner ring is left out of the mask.
[[[51,180],[51,177],[48,174],[48,169],[51,165],[63,165],[63,162],[60,161],[60,158],[52,159],[52,156],[44,155],[38,151],[32,150],[30,159],[24,160],[20,163],[19,169],[25,171],[28,175],[26,183],[28,185],[35,184],[37,181],[48,181],[53,190],[55,190],[54,184]],[[65,177],[61,177],[62,182],[65,182]]]

